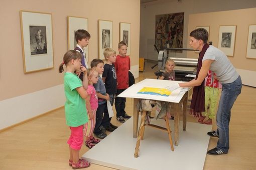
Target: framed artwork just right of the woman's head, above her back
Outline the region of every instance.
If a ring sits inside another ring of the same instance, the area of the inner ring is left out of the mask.
[[[219,26],[218,48],[227,56],[234,56],[236,25]]]

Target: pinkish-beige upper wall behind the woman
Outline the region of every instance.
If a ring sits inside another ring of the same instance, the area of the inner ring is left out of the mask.
[[[209,40],[218,47],[220,25],[236,25],[234,56],[228,56],[237,69],[256,71],[256,59],[246,58],[249,24],[256,24],[256,8],[196,13],[189,15],[188,35],[196,26],[210,26]],[[189,43],[189,41],[188,41]],[[187,44],[188,47],[189,44]],[[198,57],[196,52],[187,52],[187,57]],[[247,75],[255,76],[255,75]]]

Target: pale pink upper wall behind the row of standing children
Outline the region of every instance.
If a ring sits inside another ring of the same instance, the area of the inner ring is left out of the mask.
[[[54,68],[23,72],[20,10],[52,13]],[[113,21],[113,48],[119,22],[131,23],[131,64],[139,64],[140,0],[1,0],[0,101],[63,83],[58,65],[68,49],[67,16],[88,18],[89,61],[98,56],[98,19]]]

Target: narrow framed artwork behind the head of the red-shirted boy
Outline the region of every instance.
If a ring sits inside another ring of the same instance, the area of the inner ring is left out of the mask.
[[[131,23],[120,22],[119,42],[124,41],[128,46],[126,55],[131,54]]]

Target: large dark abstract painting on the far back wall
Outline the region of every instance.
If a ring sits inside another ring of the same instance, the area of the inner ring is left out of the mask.
[[[157,48],[182,48],[183,27],[184,12],[156,15],[155,44]]]

